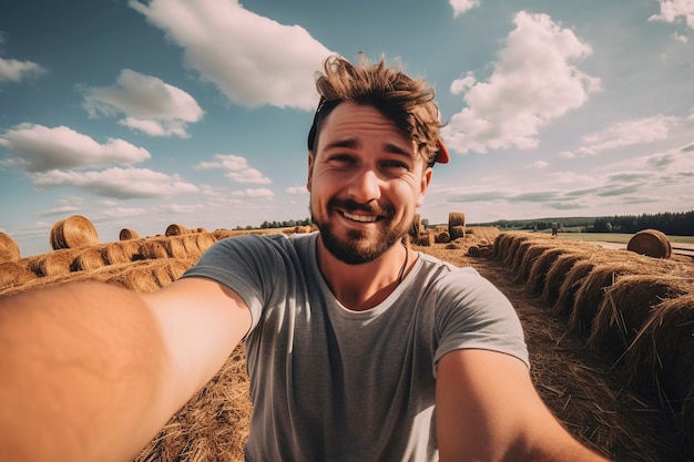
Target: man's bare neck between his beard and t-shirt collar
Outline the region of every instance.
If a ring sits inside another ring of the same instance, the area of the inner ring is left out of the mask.
[[[417,254],[399,242],[376,260],[359,265],[335,258],[320,237],[316,251],[318,268],[333,295],[353,311],[365,311],[384,301],[417,259]]]

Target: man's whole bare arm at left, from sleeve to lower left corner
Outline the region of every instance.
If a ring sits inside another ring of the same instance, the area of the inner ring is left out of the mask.
[[[235,292],[200,278],[152,295],[88,283],[0,298],[0,453],[132,460],[249,325]]]

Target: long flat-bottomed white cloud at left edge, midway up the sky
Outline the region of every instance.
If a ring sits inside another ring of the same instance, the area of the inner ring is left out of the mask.
[[[27,172],[134,164],[151,157],[146,150],[123,140],[108,138],[105,144],[100,144],[67,126],[49,129],[31,123],[0,135],[0,146],[7,147],[13,156],[3,161],[3,165]]]

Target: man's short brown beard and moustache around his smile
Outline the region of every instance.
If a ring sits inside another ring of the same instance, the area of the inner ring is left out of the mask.
[[[327,204],[328,216],[336,207],[339,207],[348,213],[365,212],[369,214],[377,214],[381,216],[379,219],[385,219],[388,223],[395,216],[395,208],[392,206],[386,206],[385,208],[371,207],[368,205],[359,204],[353,199],[336,199],[333,198]],[[341,238],[335,230],[335,225],[326,218],[325,222],[316,219],[316,214],[310,211],[312,220],[316,224],[320,230],[320,240],[325,248],[338,260],[348,265],[359,265],[364,263],[374,261],[392,247],[398,240],[407,234],[409,224],[407,226],[399,227],[386,227],[382,235],[371,235],[370,233],[364,233],[358,229],[348,229],[347,236]],[[368,243],[367,239],[372,240]]]

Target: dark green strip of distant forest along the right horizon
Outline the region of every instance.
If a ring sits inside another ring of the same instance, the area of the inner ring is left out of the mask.
[[[562,230],[575,230],[580,233],[625,234],[639,233],[643,229],[657,229],[672,236],[694,236],[694,211],[666,212],[654,215],[614,215],[609,217],[500,219],[493,223],[478,224],[478,226],[497,226],[506,229],[532,230],[551,229],[552,226],[559,226]]]

